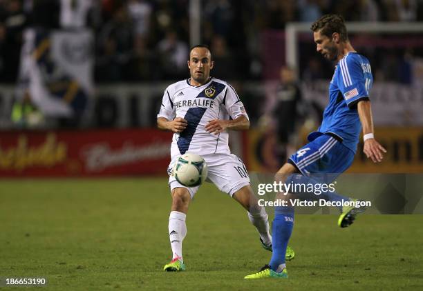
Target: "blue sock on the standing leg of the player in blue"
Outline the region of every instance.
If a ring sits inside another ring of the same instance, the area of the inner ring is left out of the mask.
[[[272,223],[272,259],[270,268],[276,271],[285,263],[286,247],[294,228],[294,208],[276,207]]]

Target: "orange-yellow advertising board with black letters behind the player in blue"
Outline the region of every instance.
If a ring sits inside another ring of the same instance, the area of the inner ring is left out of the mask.
[[[377,140],[388,150],[382,163],[373,163],[363,153],[359,143],[350,173],[419,173],[423,172],[423,128],[376,128]],[[307,143],[307,133],[303,131],[296,148]],[[362,138],[361,138],[362,140]],[[278,161],[276,135],[274,132],[251,130],[248,133],[248,168],[254,172],[274,172],[283,161]]]

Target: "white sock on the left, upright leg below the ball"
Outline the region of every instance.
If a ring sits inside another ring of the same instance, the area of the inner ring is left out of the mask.
[[[171,211],[169,215],[169,239],[172,248],[172,259],[182,259],[182,241],[187,235],[185,218],[187,214],[179,211]]]

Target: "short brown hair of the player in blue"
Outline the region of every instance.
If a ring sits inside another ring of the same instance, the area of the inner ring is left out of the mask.
[[[344,17],[338,14],[326,14],[317,19],[311,28],[313,32],[318,32],[326,37],[332,38],[334,32],[339,33],[341,41],[348,41],[348,33],[346,31]]]

